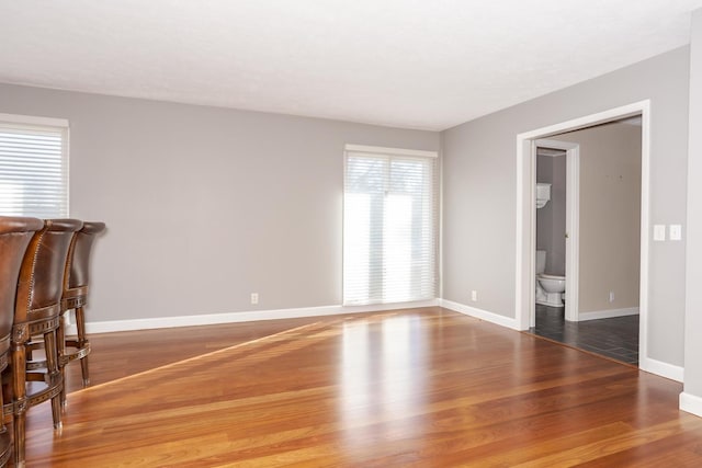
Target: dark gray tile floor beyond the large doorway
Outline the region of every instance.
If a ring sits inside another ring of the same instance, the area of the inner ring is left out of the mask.
[[[638,316],[567,322],[562,307],[536,305],[536,327],[529,330],[540,336],[638,365]]]

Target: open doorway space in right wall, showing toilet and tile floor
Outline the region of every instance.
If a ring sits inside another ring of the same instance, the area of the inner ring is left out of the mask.
[[[545,203],[539,203],[537,191],[536,305],[530,330],[638,365],[641,119],[536,140],[536,182],[551,190]],[[578,244],[582,261],[574,255]],[[542,285],[553,289],[566,283],[566,300],[539,300]]]

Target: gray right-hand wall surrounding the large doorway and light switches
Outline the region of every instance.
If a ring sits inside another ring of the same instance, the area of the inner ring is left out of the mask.
[[[514,318],[520,133],[649,99],[650,224],[682,224],[688,77],[683,47],[444,132],[443,298]],[[684,241],[652,242],[648,254],[648,355],[682,366]]]

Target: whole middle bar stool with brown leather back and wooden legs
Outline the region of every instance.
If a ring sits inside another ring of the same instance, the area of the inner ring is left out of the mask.
[[[14,463],[24,466],[25,422],[29,408],[52,400],[54,429],[61,429],[60,392],[64,380],[58,365],[56,330],[61,313],[64,272],[77,219],[48,219],[27,247],[20,277],[12,326],[12,410]],[[26,349],[32,336],[42,336],[46,368],[27,367]]]

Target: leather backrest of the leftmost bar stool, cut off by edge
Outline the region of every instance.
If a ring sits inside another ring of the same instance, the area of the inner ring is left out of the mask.
[[[22,259],[32,236],[43,226],[37,218],[0,216],[0,353],[10,347]]]

